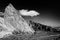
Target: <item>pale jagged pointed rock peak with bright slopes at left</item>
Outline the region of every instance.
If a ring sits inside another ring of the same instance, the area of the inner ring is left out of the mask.
[[[0,31],[0,38],[5,36],[13,35],[12,32],[20,30],[22,32],[34,33],[34,30],[29,26],[29,24],[18,14],[11,4],[5,8],[4,18],[0,18],[0,26],[5,28],[5,31]]]

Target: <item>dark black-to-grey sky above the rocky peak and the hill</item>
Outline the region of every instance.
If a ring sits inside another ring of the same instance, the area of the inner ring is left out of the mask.
[[[0,11],[11,3],[16,9],[36,10],[40,13],[37,17],[26,17],[39,23],[51,26],[60,26],[60,4],[56,2],[20,2],[20,1],[0,1]]]

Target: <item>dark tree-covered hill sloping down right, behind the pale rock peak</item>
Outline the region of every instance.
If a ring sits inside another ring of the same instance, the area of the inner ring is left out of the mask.
[[[55,33],[60,33],[60,27],[55,27],[52,28],[51,26],[43,25],[34,21],[30,21],[30,24],[32,25],[32,28],[35,31],[46,31],[46,32],[55,32]]]

